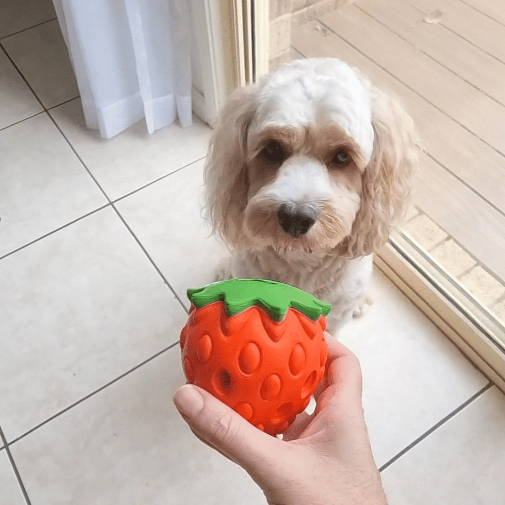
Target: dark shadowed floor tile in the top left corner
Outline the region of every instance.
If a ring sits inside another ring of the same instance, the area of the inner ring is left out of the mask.
[[[56,18],[52,0],[2,0],[0,12],[0,38]]]

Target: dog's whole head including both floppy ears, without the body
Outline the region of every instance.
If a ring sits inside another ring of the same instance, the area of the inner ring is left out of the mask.
[[[239,91],[206,169],[225,239],[280,253],[347,242],[352,255],[384,242],[410,191],[415,140],[396,104],[376,118],[373,100],[367,81],[335,59],[292,62]]]

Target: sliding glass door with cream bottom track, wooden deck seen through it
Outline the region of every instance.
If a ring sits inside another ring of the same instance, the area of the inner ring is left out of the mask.
[[[270,70],[336,57],[400,98],[426,153],[376,264],[503,386],[505,11],[500,0],[438,4],[270,0],[263,46]]]

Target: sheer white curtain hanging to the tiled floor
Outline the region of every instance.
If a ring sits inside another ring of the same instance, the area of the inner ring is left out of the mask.
[[[53,0],[88,128],[191,124],[188,0]]]

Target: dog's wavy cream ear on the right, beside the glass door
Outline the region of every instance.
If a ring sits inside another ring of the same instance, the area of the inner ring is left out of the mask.
[[[396,99],[372,87],[371,103],[374,147],[362,176],[360,210],[344,242],[349,257],[380,249],[401,221],[421,150],[414,122]]]

